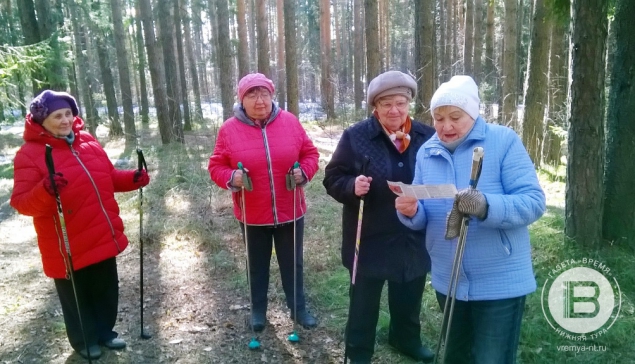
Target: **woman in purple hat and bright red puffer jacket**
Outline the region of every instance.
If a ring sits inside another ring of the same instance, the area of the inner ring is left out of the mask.
[[[100,344],[109,349],[126,346],[113,331],[119,298],[115,257],[128,246],[115,192],[145,186],[150,177],[145,170],[116,170],[99,142],[82,131],[78,113],[75,99],[65,92],[45,90],[33,99],[25,142],[14,160],[11,206],[33,217],[44,273],[55,282],[71,346],[81,356],[96,359]],[[53,148],[54,182],[45,161],[47,144]],[[56,192],[64,209],[77,301]]]

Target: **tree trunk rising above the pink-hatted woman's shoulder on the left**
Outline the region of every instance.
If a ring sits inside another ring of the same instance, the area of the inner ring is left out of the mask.
[[[233,115],[234,84],[232,70],[231,45],[229,44],[229,8],[227,0],[216,0],[218,4],[218,65],[220,67],[221,102],[223,104],[223,118],[229,119]],[[267,42],[265,42],[266,44]],[[267,47],[268,48],[268,47]],[[267,60],[268,64],[269,60]]]

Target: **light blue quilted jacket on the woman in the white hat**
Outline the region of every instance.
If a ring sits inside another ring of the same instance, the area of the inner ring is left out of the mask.
[[[456,298],[461,301],[518,297],[536,290],[527,226],[545,211],[545,195],[533,163],[516,133],[478,117],[466,140],[451,154],[437,134],[417,153],[413,184],[468,187],[475,147],[483,147],[483,170],[477,189],[489,204],[485,220],[472,218]],[[420,200],[411,219],[414,230],[426,229],[432,260],[432,286],[447,294],[457,239],[445,240],[446,216],[453,199]]]

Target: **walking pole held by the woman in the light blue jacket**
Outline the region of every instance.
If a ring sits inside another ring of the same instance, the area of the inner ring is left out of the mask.
[[[481,177],[481,169],[483,168],[483,148],[476,147],[472,153],[472,173],[470,174],[470,189],[475,190],[478,180]],[[441,322],[441,333],[439,334],[439,340],[437,342],[437,352],[435,354],[435,360],[438,363],[445,361],[446,348],[443,348],[443,354],[439,360],[439,351],[441,349],[441,343],[445,346],[450,338],[450,329],[452,328],[452,316],[454,314],[454,303],[456,301],[456,289],[459,284],[459,273],[461,271],[461,263],[463,262],[463,253],[465,251],[465,239],[467,237],[467,229],[470,225],[470,216],[465,214],[461,219],[461,230],[459,232],[459,240],[456,245],[456,252],[454,254],[454,260],[452,262],[452,272],[450,274],[450,283],[448,285],[448,295],[445,297],[445,304],[443,305],[443,321]],[[449,310],[448,310],[449,303]],[[445,331],[445,339],[444,337]]]

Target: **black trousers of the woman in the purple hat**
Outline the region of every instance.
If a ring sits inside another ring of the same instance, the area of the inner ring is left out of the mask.
[[[88,346],[114,339],[119,304],[119,278],[115,258],[89,265],[73,274]],[[70,279],[54,279],[62,304],[68,341],[75,350],[84,349],[84,336]]]

